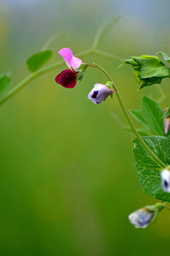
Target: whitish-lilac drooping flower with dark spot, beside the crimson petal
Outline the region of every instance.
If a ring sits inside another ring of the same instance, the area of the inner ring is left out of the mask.
[[[88,98],[95,104],[100,104],[103,100],[113,93],[113,89],[109,88],[107,85],[102,85],[101,83],[96,83],[94,88],[89,92]]]

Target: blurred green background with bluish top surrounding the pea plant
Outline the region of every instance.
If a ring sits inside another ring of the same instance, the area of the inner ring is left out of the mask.
[[[1,0],[1,73],[11,72],[12,85],[28,75],[26,59],[47,38],[50,63],[57,51],[74,54],[91,47],[103,19],[123,14],[100,49],[123,58],[169,52],[170,2],[101,0]],[[137,92],[129,66],[96,55],[83,59],[108,70],[125,106],[140,108],[142,95],[159,98],[158,85]],[[57,70],[26,85],[0,108],[0,255],[110,256],[169,253],[170,214],[156,225],[136,230],[128,214],[155,200],[143,194],[135,173],[132,135],[115,95],[94,105],[87,94],[102,73],[86,70],[81,86],[67,90],[55,83]],[[162,83],[169,106],[169,80]]]

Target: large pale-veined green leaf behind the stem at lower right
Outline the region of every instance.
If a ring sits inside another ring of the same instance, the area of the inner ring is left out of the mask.
[[[162,145],[166,137],[150,136],[142,137],[142,139],[147,146],[149,146],[149,149],[166,164],[162,152]],[[155,195],[157,199],[163,202],[170,202],[170,193],[164,193],[164,191],[162,191],[160,166],[147,154],[147,151],[145,151],[138,139],[134,139],[134,144],[133,154],[135,157],[137,177],[139,178],[144,193],[147,193],[150,197]]]

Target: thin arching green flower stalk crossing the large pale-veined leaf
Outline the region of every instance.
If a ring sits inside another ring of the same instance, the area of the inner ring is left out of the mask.
[[[106,72],[106,70],[104,70],[103,68],[101,68],[100,66],[97,65],[97,68],[101,71],[103,71],[103,73],[105,73],[105,75],[108,77],[108,79],[113,82],[112,78],[110,75],[108,75],[108,73]],[[115,93],[118,97],[118,101],[120,103],[120,107],[123,110],[123,113],[125,114],[126,119],[128,120],[128,123],[130,124],[130,127],[132,128],[132,131],[135,133],[137,139],[139,140],[140,144],[142,144],[143,148],[147,151],[147,153],[149,154],[149,156],[162,168],[166,167],[166,164],[163,163],[163,161],[161,161],[161,159],[159,159],[153,152],[151,149],[149,149],[149,147],[147,146],[147,144],[144,142],[144,140],[142,139],[142,137],[140,137],[140,134],[137,132],[134,124],[132,123],[132,120],[130,119],[130,116],[128,114],[128,111],[126,110],[123,101],[119,95],[118,89],[115,87],[115,84],[113,82],[113,88],[115,90]]]

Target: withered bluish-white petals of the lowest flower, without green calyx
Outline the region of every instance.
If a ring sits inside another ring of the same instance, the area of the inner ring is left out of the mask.
[[[130,213],[129,220],[135,228],[147,228],[147,225],[151,222],[153,217],[153,211],[147,208],[141,208]]]

